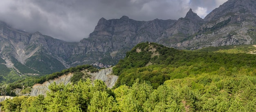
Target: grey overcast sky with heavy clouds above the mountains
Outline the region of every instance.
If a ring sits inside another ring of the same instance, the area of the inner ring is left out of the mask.
[[[13,28],[65,41],[88,38],[100,18],[184,18],[191,8],[204,18],[227,0],[0,0],[0,20]]]

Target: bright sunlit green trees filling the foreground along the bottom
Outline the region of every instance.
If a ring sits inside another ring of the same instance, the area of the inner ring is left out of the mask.
[[[109,90],[95,80],[53,83],[43,96],[18,96],[0,103],[5,112],[254,112],[255,76],[203,74],[165,81],[156,89],[135,80]]]

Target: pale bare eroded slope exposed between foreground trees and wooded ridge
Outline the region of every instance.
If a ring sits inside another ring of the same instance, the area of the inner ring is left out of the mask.
[[[106,69],[101,69],[99,72],[95,72],[95,73],[88,72],[87,74],[91,76],[92,82],[96,79],[99,79],[104,81],[107,87],[112,88],[115,85],[115,82],[117,81],[118,76],[111,75],[111,73],[112,73],[112,68],[106,68]],[[32,87],[29,95],[30,96],[38,96],[40,94],[46,95],[46,92],[49,91],[48,86],[50,84],[55,82],[56,84],[63,83],[66,85],[67,83],[70,83],[72,76],[73,74],[70,73],[70,74],[55,78],[54,80],[46,81],[43,84],[35,84]]]

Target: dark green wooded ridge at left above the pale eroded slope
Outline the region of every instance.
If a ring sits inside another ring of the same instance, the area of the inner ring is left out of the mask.
[[[79,65],[76,67],[70,67],[69,69],[64,69],[61,72],[54,72],[52,74],[48,74],[45,76],[27,76],[22,79],[19,79],[20,76],[15,75],[16,72],[13,71],[13,73],[11,72],[12,74],[10,73],[11,75],[8,75],[9,78],[13,80],[11,81],[7,80],[0,83],[0,86],[1,86],[0,93],[2,95],[15,96],[16,94],[13,92],[13,89],[19,88],[19,89],[25,90],[26,88],[31,88],[33,85],[37,83],[43,84],[46,81],[54,80],[59,76],[67,75],[70,73],[72,73],[73,75],[70,81],[72,83],[77,83],[80,79],[85,80],[86,78],[90,78],[90,76],[85,71],[93,73],[93,72],[98,72],[99,69],[93,67],[92,65]],[[26,93],[29,93],[29,92],[24,92],[23,94],[26,94]]]

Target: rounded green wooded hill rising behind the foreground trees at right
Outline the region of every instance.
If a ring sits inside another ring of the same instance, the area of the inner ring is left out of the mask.
[[[217,50],[223,48],[227,51],[234,51],[234,53]],[[239,48],[244,49],[243,51],[247,49],[246,52],[256,49],[252,45],[245,45],[186,51],[164,47],[156,43],[140,43],[127,52],[126,58],[120,60],[113,68],[113,73],[119,76],[115,86],[124,84],[131,86],[136,78],[157,88],[169,79],[201,74],[236,76],[243,73],[255,75],[256,55],[239,53],[239,50],[236,51]],[[207,49],[211,49],[211,51],[208,52]]]

